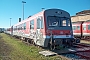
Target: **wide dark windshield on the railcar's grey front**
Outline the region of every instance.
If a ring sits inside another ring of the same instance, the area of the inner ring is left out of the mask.
[[[48,16],[48,26],[70,26],[70,19],[65,17]]]

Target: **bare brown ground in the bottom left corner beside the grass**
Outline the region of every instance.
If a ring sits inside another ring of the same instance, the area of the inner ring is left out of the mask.
[[[6,44],[0,36],[0,60],[11,60],[9,55],[11,51],[9,44]]]

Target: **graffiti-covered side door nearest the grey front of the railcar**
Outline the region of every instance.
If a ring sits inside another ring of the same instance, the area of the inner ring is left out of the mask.
[[[43,20],[41,18],[37,19],[37,29],[36,29],[36,44],[43,45],[43,34],[42,34]]]

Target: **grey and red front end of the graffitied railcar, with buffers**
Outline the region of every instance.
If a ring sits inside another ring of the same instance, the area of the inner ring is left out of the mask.
[[[68,12],[60,9],[45,11],[46,45],[72,46],[76,43],[73,37],[71,18]]]

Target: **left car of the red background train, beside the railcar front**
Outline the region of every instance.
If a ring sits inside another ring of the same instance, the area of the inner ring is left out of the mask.
[[[73,28],[73,35],[75,38],[80,38],[83,36],[83,26],[82,24],[84,21],[77,21],[77,22],[72,22],[72,28]]]

